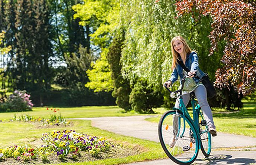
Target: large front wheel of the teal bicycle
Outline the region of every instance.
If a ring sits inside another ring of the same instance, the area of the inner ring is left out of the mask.
[[[190,119],[170,110],[158,125],[159,140],[166,155],[177,164],[187,165],[198,155],[199,141]]]

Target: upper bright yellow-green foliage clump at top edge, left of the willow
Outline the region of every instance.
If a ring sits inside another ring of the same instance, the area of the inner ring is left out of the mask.
[[[119,0],[84,0],[83,4],[72,7],[80,18],[79,24],[90,24],[95,32],[90,34],[92,42],[100,47],[107,47],[110,43],[113,30],[119,26]]]

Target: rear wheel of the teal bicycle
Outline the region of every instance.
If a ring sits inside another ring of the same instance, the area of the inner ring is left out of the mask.
[[[204,156],[209,156],[211,154],[211,148],[212,148],[212,140],[211,140],[211,133],[208,132],[208,127],[206,124],[206,121],[204,120],[204,116],[201,113],[201,107],[199,111],[199,134],[200,134],[200,145],[201,145],[201,151],[204,154]]]

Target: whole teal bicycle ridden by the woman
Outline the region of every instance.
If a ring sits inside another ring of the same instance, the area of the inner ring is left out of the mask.
[[[167,86],[165,88],[179,97],[179,108],[173,108],[165,112],[159,121],[158,134],[161,146],[167,156],[177,164],[187,165],[195,161],[199,149],[205,156],[211,153],[211,134],[200,105],[195,101],[192,92],[191,104],[193,108],[193,119],[188,113],[182,99],[182,87],[172,92]]]

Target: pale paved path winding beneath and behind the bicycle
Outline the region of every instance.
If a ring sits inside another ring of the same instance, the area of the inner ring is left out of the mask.
[[[92,126],[111,131],[117,134],[132,136],[140,139],[159,142],[157,124],[145,121],[145,118],[152,116],[128,116],[128,117],[102,117],[102,118],[74,118],[91,120]],[[256,146],[256,138],[241,135],[232,135],[218,132],[212,139],[213,151],[209,159],[206,159],[201,152],[193,164],[232,164],[248,165],[256,164],[256,151],[220,151],[217,148],[227,147],[248,147],[247,150],[256,150],[250,146]],[[243,148],[244,150],[244,148]],[[129,165],[174,165],[170,159],[161,159],[147,162],[137,162]]]

